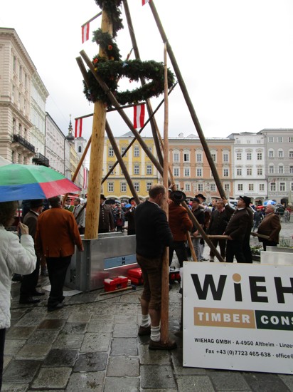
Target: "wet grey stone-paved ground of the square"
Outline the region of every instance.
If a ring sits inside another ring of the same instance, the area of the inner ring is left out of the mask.
[[[282,235],[292,237],[292,229],[283,224]],[[40,281],[48,284],[48,278]],[[149,351],[148,337],[137,336],[141,290],[78,294],[48,313],[48,292],[36,306],[20,305],[14,283],[2,391],[293,391],[291,375],[183,368],[182,338],[173,335],[181,317],[177,283],[170,291],[169,329],[178,348]]]

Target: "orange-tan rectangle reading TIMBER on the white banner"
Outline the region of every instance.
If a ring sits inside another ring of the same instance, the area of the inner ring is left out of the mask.
[[[194,325],[255,329],[255,312],[250,309],[193,308]]]

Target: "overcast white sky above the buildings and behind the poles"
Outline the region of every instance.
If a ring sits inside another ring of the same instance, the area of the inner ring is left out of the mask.
[[[163,61],[164,45],[149,4],[142,6],[142,0],[128,4],[142,60]],[[207,138],[293,128],[292,0],[154,0],[154,4]],[[9,0],[1,6],[0,26],[16,29],[50,93],[47,111],[65,134],[70,114],[75,118],[92,113],[75,58],[82,49],[90,58],[98,52],[91,34],[101,19],[90,24],[90,41],[84,44],[81,25],[99,11],[94,0]],[[132,47],[126,21],[117,43],[126,58]],[[132,88],[129,81],[120,86]],[[153,108],[161,98],[152,100]],[[127,114],[133,117],[132,110]],[[128,132],[117,114],[107,119],[114,135]],[[163,133],[163,107],[156,119]],[[91,128],[89,118],[84,122],[85,138]],[[196,130],[177,86],[169,98],[169,135],[181,132],[186,136]],[[144,135],[150,135],[149,129]]]

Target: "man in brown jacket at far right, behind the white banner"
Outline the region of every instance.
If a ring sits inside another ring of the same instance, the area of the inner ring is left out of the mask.
[[[268,204],[265,208],[265,217],[258,227],[257,233],[267,235],[269,239],[258,238],[262,242],[264,250],[267,246],[277,247],[279,244],[279,232],[281,231],[281,222],[279,217],[275,214],[275,205]]]

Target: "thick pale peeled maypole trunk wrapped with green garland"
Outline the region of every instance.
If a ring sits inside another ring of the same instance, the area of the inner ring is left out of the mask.
[[[107,12],[102,10],[102,31],[104,33],[109,33],[112,36],[112,27],[112,21],[110,21]],[[99,55],[107,57],[101,46],[99,49]],[[90,150],[90,172],[87,189],[87,209],[85,215],[85,239],[97,238],[98,235],[105,123],[105,104],[102,100],[98,100],[94,104],[94,115],[92,119],[92,148]]]

